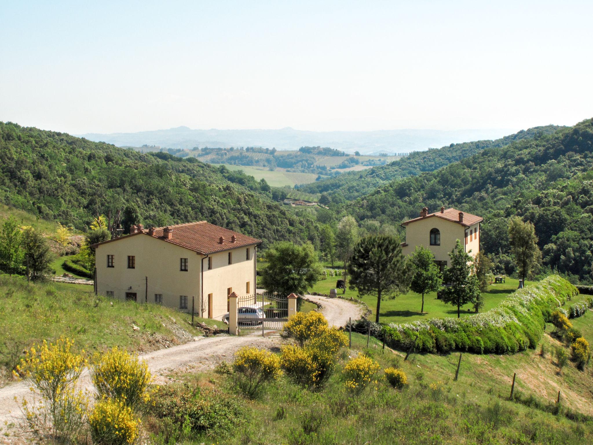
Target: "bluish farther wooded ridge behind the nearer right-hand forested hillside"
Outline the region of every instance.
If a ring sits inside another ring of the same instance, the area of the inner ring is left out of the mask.
[[[518,133],[494,141],[463,142],[462,144],[451,144],[448,147],[439,149],[416,151],[407,157],[387,164],[387,166],[343,173],[331,179],[301,186],[299,190],[307,193],[327,193],[332,201],[342,203],[371,193],[377,187],[391,180],[414,176],[425,171],[434,171],[486,148],[503,147],[521,139],[538,138],[542,135],[551,134],[559,128],[562,127],[557,125],[538,126],[527,131],[521,130]]]

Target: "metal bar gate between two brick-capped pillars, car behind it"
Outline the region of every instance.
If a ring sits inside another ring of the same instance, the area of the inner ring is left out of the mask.
[[[288,322],[288,298],[275,294],[248,295],[237,301],[239,335],[280,335]]]

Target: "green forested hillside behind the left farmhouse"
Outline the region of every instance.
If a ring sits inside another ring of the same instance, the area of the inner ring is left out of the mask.
[[[0,122],[0,201],[81,230],[121,209],[126,228],[207,220],[266,243],[317,243],[314,217],[273,202],[265,181],[14,123]]]

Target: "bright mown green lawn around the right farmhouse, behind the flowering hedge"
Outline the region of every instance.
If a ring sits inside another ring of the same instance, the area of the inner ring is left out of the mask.
[[[310,291],[329,294],[330,289],[336,286],[336,281],[339,278],[339,276],[334,276],[320,280]],[[529,285],[529,282],[527,282],[527,285]],[[505,284],[491,285],[489,290],[483,294],[484,307],[482,311],[492,309],[509,294],[517,290],[518,287],[519,281],[512,278],[506,278]],[[345,297],[359,298],[358,292],[349,289],[346,289],[345,294],[342,294],[342,290],[338,290],[338,294]],[[368,304],[372,310],[371,317],[374,319],[377,313],[377,298],[364,295],[361,300]],[[424,313],[420,313],[420,307],[422,307],[422,295],[414,292],[398,295],[394,300],[382,300],[380,321],[385,323],[408,323],[435,317],[457,317],[457,307],[451,306],[451,304],[445,304],[441,300],[436,300],[436,293],[426,294],[424,296]],[[467,304],[461,309],[462,317],[472,313],[473,308],[471,304]]]

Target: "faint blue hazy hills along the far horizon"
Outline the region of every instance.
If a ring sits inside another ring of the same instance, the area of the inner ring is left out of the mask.
[[[193,130],[185,126],[166,130],[136,133],[79,135],[90,141],[103,141],[118,147],[160,145],[167,148],[193,147],[267,147],[276,150],[297,150],[303,146],[331,147],[353,153],[379,154],[409,152],[441,147],[457,142],[499,138],[507,129],[477,130],[380,130],[380,131],[302,131],[294,128],[278,130]]]

